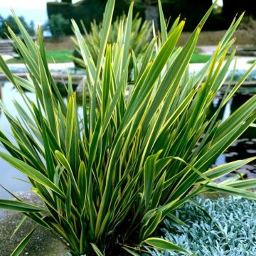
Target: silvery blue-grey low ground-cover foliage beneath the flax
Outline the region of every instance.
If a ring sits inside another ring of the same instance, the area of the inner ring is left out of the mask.
[[[164,220],[164,238],[195,255],[256,255],[256,201],[238,197],[196,198],[178,209],[176,217],[185,225]],[[152,256],[182,255],[181,252],[150,252]]]

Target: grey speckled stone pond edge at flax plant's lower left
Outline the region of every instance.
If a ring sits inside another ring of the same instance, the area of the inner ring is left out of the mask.
[[[16,196],[23,201],[42,205],[41,200],[29,191],[15,193]],[[16,225],[22,218],[21,213],[9,210],[0,210],[0,255],[9,256],[18,243],[26,236],[27,233],[35,226],[32,220],[26,220],[20,230],[11,238],[12,233],[16,229]],[[67,256],[68,250],[63,242],[55,237],[53,233],[42,227],[37,227],[35,233],[28,242],[21,256]]]

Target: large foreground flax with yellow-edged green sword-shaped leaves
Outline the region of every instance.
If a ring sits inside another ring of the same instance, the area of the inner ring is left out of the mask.
[[[218,118],[255,65],[226,90],[218,110],[208,114],[229,73],[235,50],[226,54],[235,42],[232,36],[242,16],[233,21],[208,63],[189,75],[189,61],[214,5],[186,45],[177,48],[185,21],[177,18],[167,32],[159,1],[161,37],[154,36],[142,62],[129,48],[132,6],[127,22],[119,28],[119,40],[110,44],[114,0],[108,1],[96,63],[73,21],[87,67],[81,107],[71,75],[68,98],[60,96],[40,30],[35,43],[15,14],[25,43],[11,28],[9,33],[26,63],[28,80],[12,74],[0,58],[1,71],[28,108],[16,102],[18,115],[14,117],[1,104],[13,138],[0,132],[1,144],[9,151],[0,156],[28,176],[32,191],[44,203],[33,206],[14,195],[15,201],[1,200],[0,207],[19,211],[51,230],[68,243],[73,255],[139,255],[145,245],[184,252],[156,238],[155,232],[164,218],[176,220],[173,212],[183,203],[214,191],[256,199],[256,193],[248,190],[256,186],[255,178],[215,183],[216,178],[256,157],[211,167],[235,139],[255,126],[256,95],[225,121]],[[130,60],[132,80],[128,78]],[[24,88],[36,94],[35,102],[28,99]]]

